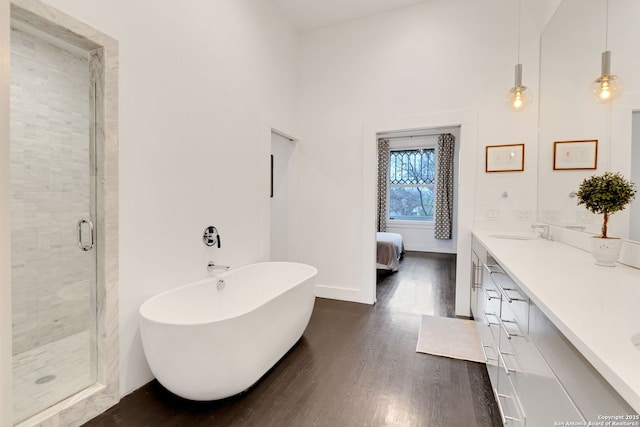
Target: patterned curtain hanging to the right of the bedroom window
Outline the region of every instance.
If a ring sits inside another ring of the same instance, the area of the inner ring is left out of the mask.
[[[451,239],[453,229],[453,155],[455,137],[443,133],[438,137],[438,177],[436,179],[435,238]]]

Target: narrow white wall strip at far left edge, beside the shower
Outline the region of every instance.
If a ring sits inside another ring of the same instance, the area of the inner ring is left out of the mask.
[[[9,0],[0,0],[0,425],[11,425],[11,191],[9,188]]]

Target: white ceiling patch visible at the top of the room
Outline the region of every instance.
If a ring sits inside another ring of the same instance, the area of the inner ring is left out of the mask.
[[[274,0],[298,31],[309,31],[425,0]]]

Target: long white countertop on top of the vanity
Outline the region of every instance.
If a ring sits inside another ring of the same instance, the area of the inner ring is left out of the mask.
[[[640,413],[640,270],[601,267],[561,242],[474,236],[529,298]]]

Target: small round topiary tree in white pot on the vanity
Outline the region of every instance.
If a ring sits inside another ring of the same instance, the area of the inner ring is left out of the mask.
[[[607,236],[609,216],[623,210],[636,196],[636,186],[619,172],[605,172],[585,178],[576,193],[578,205],[602,214],[602,232],[592,241],[592,253],[596,264],[615,267],[620,254],[622,239]]]

